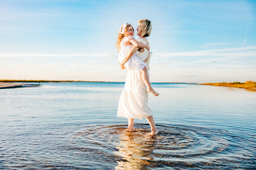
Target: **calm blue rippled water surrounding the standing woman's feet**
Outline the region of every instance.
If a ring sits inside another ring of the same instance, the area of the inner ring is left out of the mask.
[[[255,169],[256,92],[153,83],[160,134],[122,132],[124,83],[0,89],[0,169]]]

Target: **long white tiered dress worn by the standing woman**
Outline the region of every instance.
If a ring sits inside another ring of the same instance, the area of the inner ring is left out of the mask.
[[[147,44],[142,39],[137,41]],[[151,52],[144,48],[144,52],[136,51],[136,56],[139,60],[147,59],[149,64]],[[147,67],[149,70],[149,67]],[[152,110],[148,107],[148,92],[145,83],[142,80],[141,72],[134,69],[129,69],[125,80],[124,90],[120,96],[118,104],[118,117],[142,119],[143,117],[151,116]]]

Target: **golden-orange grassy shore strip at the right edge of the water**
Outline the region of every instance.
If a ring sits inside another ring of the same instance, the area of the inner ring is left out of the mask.
[[[200,85],[211,85],[211,86],[225,86],[225,87],[237,87],[244,89],[256,89],[256,81],[246,81],[244,83],[240,83],[239,81],[233,83],[204,83]]]

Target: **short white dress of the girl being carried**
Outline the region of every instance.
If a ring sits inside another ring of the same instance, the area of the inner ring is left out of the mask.
[[[124,45],[124,42],[126,41],[129,41],[128,37],[124,37],[124,39],[120,43],[120,51],[118,56],[119,62],[122,62],[124,60],[125,55],[132,48],[132,45]],[[125,68],[138,70],[138,71],[141,71],[145,66],[147,67],[147,65],[143,61],[141,61],[138,57],[136,57],[135,54],[133,54],[132,57],[124,64]]]

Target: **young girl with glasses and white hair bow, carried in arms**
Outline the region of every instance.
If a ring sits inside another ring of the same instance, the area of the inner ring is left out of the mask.
[[[134,29],[131,24],[123,24],[119,30],[119,34],[117,36],[116,41],[116,48],[119,52],[118,60],[119,63],[122,62],[126,56],[126,54],[132,48],[132,45],[137,46],[139,48],[147,48],[149,49],[148,44],[143,44],[136,41],[133,37]],[[141,61],[135,54],[124,64],[125,68],[138,70],[142,73],[143,81],[147,86],[147,91],[154,96],[158,96],[159,94],[151,87],[149,76],[148,76],[148,69],[147,64]]]

